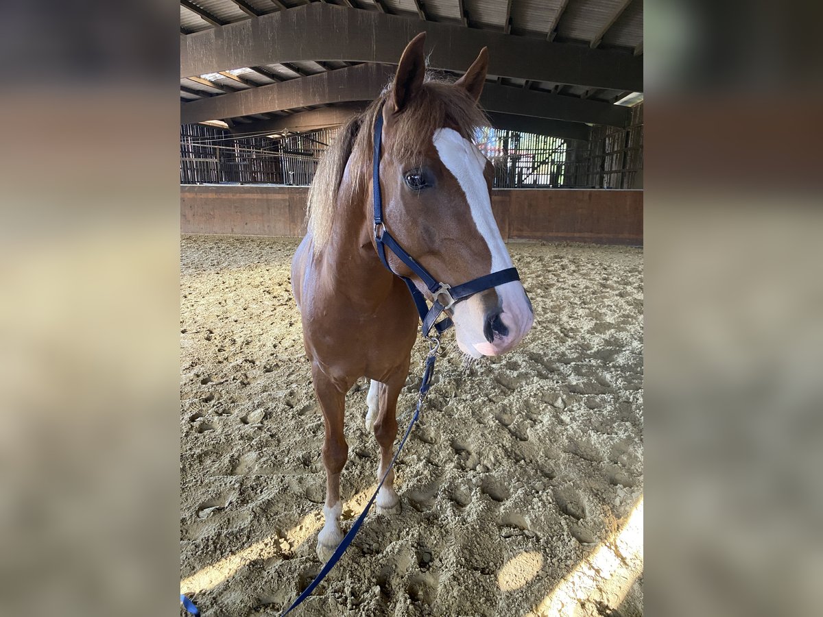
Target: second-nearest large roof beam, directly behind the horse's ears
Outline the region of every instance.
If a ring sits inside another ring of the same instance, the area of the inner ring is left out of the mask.
[[[395,67],[391,65],[359,64],[271,86],[239,90],[230,95],[195,100],[182,105],[180,123],[266,114],[306,105],[374,100],[394,72]],[[608,103],[488,83],[483,88],[480,104],[483,109],[502,114],[619,127],[625,126],[631,114],[628,108]]]

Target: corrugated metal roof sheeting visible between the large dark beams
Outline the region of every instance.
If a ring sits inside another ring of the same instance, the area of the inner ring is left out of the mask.
[[[312,0],[181,0],[180,31],[184,35],[216,26],[263,16],[284,9],[309,4]],[[552,41],[559,46],[574,45],[612,49],[627,54],[643,53],[642,0],[324,0],[328,4],[348,7],[351,11],[384,12],[474,30],[491,30],[512,37]],[[463,15],[461,15],[461,8]],[[224,74],[191,76],[214,86],[180,80],[182,102],[207,96],[225,95],[278,81],[303,79],[321,72],[351,66],[341,61],[262,64],[258,67],[235,67],[232,78]],[[625,90],[586,88],[549,81],[490,76],[500,86],[551,92],[556,95],[614,103]],[[184,90],[185,89],[185,90]],[[271,115],[288,114],[289,110]],[[265,117],[265,116],[263,116]],[[235,121],[243,122],[241,118]]]

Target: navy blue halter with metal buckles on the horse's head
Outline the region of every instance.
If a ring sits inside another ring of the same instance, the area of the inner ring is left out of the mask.
[[[430,275],[425,267],[422,267],[415,261],[414,257],[403,250],[393,235],[388,233],[383,220],[383,195],[380,193],[380,145],[381,141],[383,141],[382,137],[383,108],[381,107],[377,112],[377,119],[374,121],[374,170],[372,176],[374,180],[374,243],[377,245],[377,254],[380,257],[380,261],[383,262],[383,265],[394,275],[400,276],[409,288],[412,299],[414,299],[414,304],[417,307],[417,313],[420,313],[420,318],[423,322],[423,336],[428,338],[433,327],[439,335],[453,326],[453,322],[451,318],[448,317],[448,313],[447,317],[441,319],[439,322],[437,322],[437,318],[439,318],[442,313],[450,311],[454,304],[480,291],[488,290],[511,281],[519,281],[520,276],[518,275],[517,268],[506,268],[505,270],[492,272],[486,276],[480,276],[472,281],[463,283],[463,285],[455,285],[452,287],[451,285],[437,281],[434,276]],[[405,263],[412,272],[420,277],[434,299],[434,304],[432,304],[431,308],[429,308],[421,291],[417,289],[412,280],[406,276],[399,275],[388,265],[386,248],[390,249],[392,253],[400,258],[400,261]]]

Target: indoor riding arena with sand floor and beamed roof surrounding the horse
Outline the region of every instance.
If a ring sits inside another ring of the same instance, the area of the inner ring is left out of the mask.
[[[180,615],[281,615],[323,568],[291,258],[323,154],[421,32],[437,80],[488,50],[472,141],[533,326],[479,359],[442,336],[399,512],[372,508],[290,615],[643,615],[643,2],[180,4]],[[369,390],[346,394],[343,533],[377,489]]]

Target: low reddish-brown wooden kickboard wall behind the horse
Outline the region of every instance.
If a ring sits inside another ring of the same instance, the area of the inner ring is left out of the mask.
[[[308,188],[186,184],[180,187],[184,234],[305,233]],[[643,244],[643,191],[500,188],[492,209],[504,240]]]

